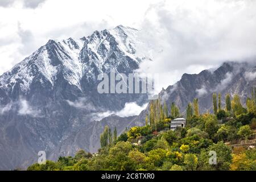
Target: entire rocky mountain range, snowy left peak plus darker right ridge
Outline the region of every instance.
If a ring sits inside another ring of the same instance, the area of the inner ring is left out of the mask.
[[[124,26],[94,31],[81,39],[49,40],[31,56],[0,77],[0,169],[26,168],[46,151],[47,159],[74,155],[80,148],[97,152],[104,126],[118,134],[142,126],[141,114],[120,117],[103,113],[122,110],[127,103],[142,106],[147,94],[100,94],[100,73],[133,73],[150,60],[139,31]],[[161,101],[176,102],[184,114],[193,98],[200,110],[211,110],[212,93],[239,94],[244,102],[256,85],[256,63],[226,62],[216,70],[184,74],[159,93]],[[224,100],[224,97],[222,97]],[[224,102],[222,102],[224,103]],[[148,107],[147,107],[148,108]]]

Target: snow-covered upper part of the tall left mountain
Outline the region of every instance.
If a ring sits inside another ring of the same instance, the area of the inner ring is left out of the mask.
[[[86,38],[51,39],[4,73],[0,88],[13,90],[16,86],[26,93],[32,82],[47,82],[52,88],[57,79],[64,78],[82,90],[81,80],[95,82],[99,73],[108,73],[112,68],[121,73],[133,72],[146,57],[137,34],[138,30],[120,25],[96,30]]]

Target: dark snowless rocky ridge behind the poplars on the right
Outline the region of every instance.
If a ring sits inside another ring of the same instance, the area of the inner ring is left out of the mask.
[[[212,112],[212,94],[221,93],[222,108],[225,106],[225,95],[238,94],[245,104],[250,97],[251,88],[256,86],[256,63],[233,63],[227,62],[215,71],[205,70],[199,74],[184,74],[176,84],[168,86],[159,93],[162,101],[166,101],[170,109],[171,102],[179,106],[183,115],[185,108],[194,98],[199,98],[200,111]]]

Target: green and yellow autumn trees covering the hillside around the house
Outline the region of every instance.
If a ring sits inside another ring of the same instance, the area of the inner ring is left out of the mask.
[[[239,96],[232,99],[229,94],[221,106],[221,95],[214,93],[214,114],[200,114],[196,98],[187,106],[187,125],[172,131],[166,129],[171,119],[181,117],[179,108],[173,102],[169,112],[166,102],[152,101],[145,126],[132,127],[119,137],[116,129],[112,133],[106,126],[97,154],[80,150],[74,157],[60,156],[57,162],[47,160],[28,170],[256,170],[255,148],[232,147],[253,138],[256,90],[246,108]],[[216,164],[209,164],[210,151],[217,154]]]

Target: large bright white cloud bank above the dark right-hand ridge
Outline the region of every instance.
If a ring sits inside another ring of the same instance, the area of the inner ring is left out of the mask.
[[[145,17],[141,38],[153,61],[144,61],[139,71],[169,81],[160,88],[183,73],[256,55],[255,1],[164,1],[151,6]]]

